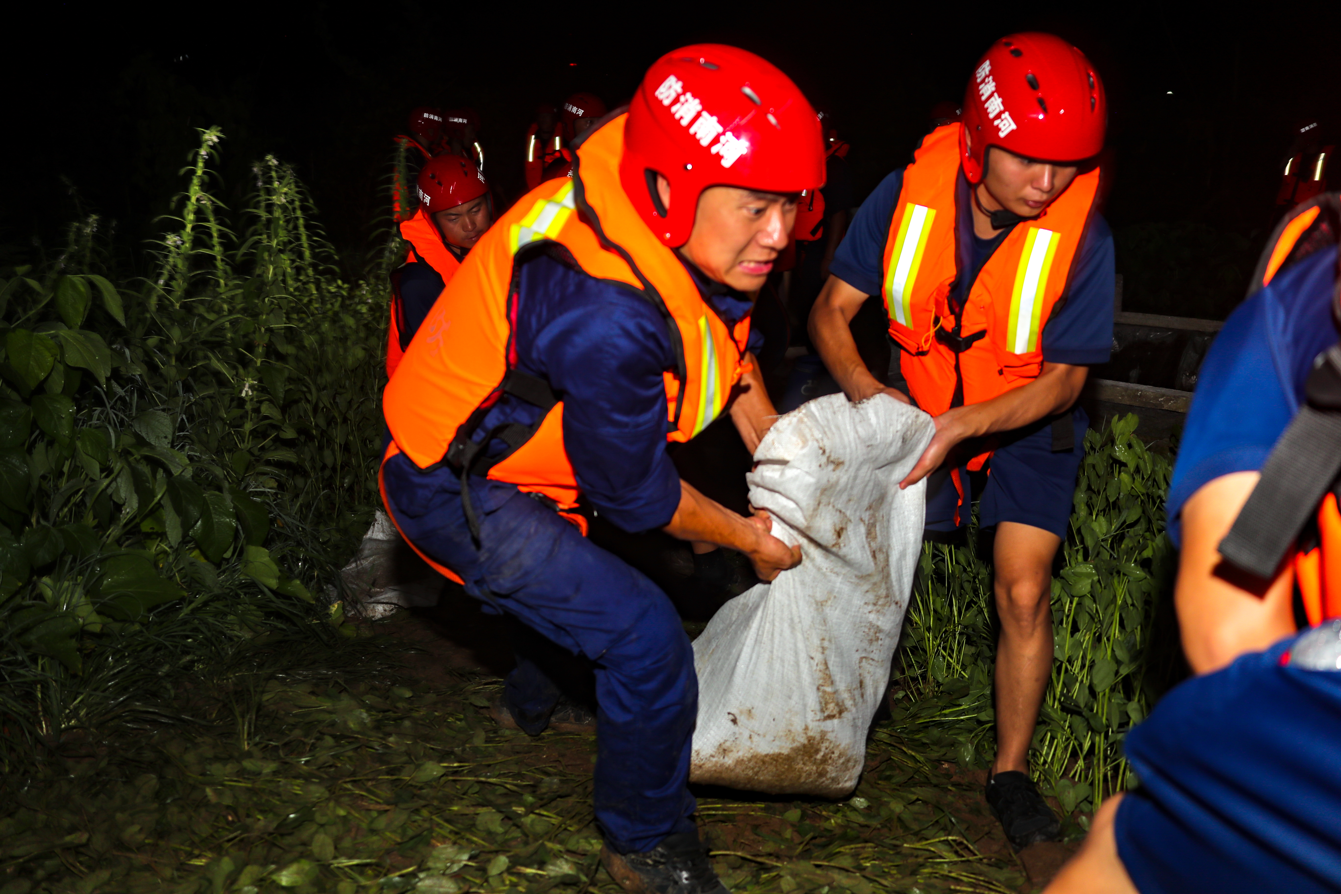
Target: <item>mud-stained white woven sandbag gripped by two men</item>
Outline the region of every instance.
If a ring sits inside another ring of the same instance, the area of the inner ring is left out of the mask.
[[[898,483],[932,433],[888,395],[831,394],[755,450],[750,501],[802,563],[728,602],[695,641],[691,780],[829,797],[856,787],[921,547],[925,481]]]

